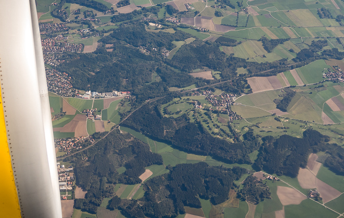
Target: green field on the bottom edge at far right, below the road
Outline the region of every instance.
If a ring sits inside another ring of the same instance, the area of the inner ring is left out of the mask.
[[[313,200],[303,200],[299,205],[287,205],[284,207],[286,218],[336,218],[338,214],[326,209]]]

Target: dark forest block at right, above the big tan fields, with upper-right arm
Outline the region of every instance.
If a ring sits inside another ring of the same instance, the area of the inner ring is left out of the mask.
[[[306,167],[308,156],[314,152],[326,149],[325,141],[328,136],[307,129],[303,138],[282,135],[279,138],[266,136],[262,138],[263,144],[259,150],[254,166],[277,175],[295,177],[299,167]]]

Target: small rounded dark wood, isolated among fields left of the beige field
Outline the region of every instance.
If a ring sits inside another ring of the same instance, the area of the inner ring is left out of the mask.
[[[260,180],[257,179],[257,177],[253,175],[247,177],[242,185],[244,185],[244,187],[240,189],[238,197],[244,201],[258,204],[265,198],[271,198],[269,187],[264,185]]]

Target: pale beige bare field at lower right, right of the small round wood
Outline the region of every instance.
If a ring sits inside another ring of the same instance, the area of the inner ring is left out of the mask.
[[[300,204],[301,201],[307,199],[305,195],[291,187],[277,187],[277,196],[283,206],[290,204]]]

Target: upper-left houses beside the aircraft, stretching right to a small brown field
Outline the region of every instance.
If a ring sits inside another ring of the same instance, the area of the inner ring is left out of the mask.
[[[42,39],[43,55],[53,55],[63,52],[82,52],[83,44],[72,44],[68,42],[67,37],[58,35],[53,38]]]

